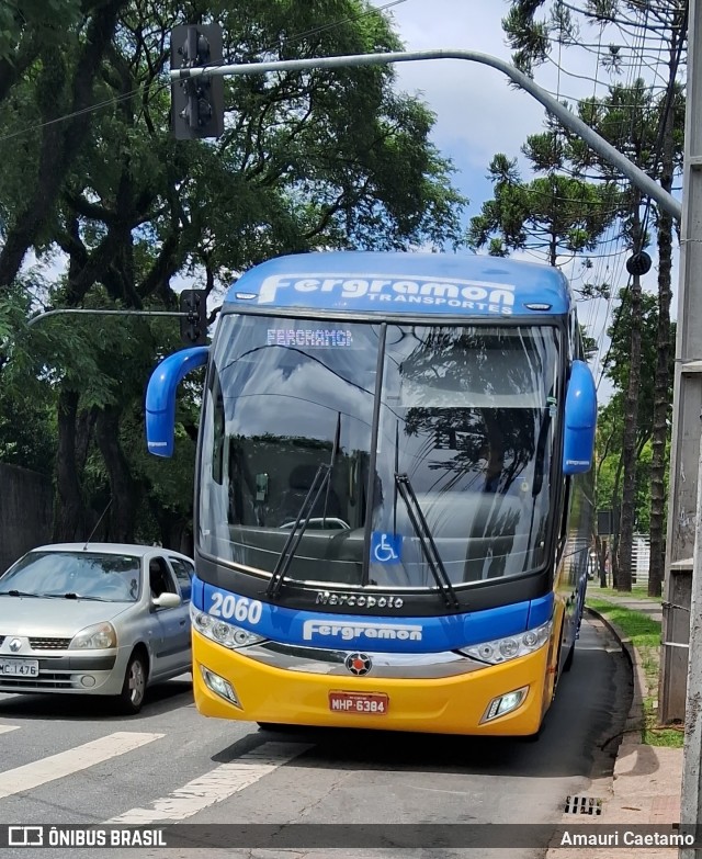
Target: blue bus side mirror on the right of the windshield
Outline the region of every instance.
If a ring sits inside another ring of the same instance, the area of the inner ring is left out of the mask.
[[[585,361],[574,361],[566,394],[563,473],[584,474],[595,459],[597,388]]]

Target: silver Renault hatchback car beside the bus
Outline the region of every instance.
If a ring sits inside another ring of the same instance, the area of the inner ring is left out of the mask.
[[[0,692],[113,696],[191,670],[193,563],[126,543],[34,549],[0,576]]]

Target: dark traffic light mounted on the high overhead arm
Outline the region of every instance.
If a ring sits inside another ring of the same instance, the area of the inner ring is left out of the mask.
[[[222,65],[219,24],[180,24],[171,33],[171,69]],[[224,133],[224,78],[171,81],[171,127],[178,140]]]

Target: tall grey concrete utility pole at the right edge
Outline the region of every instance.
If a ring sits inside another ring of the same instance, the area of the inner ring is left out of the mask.
[[[686,722],[680,825],[702,821],[702,5],[690,0],[660,721]],[[686,646],[687,645],[687,646]],[[687,682],[686,682],[687,681]],[[687,691],[680,708],[680,692]],[[702,859],[683,848],[680,859]]]

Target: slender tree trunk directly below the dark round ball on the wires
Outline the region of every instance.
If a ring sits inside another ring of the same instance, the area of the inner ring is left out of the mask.
[[[616,589],[632,589],[632,544],[636,501],[636,428],[638,422],[638,388],[641,385],[641,278],[632,275],[631,290],[632,339],[631,368],[624,403],[624,438],[622,443],[622,515],[619,529]]]

